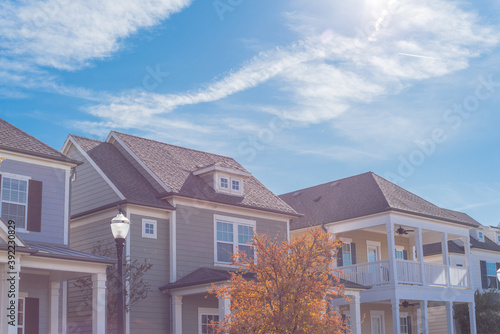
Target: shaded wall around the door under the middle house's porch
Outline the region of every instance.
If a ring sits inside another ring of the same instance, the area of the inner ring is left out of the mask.
[[[219,303],[213,295],[198,294],[182,298],[182,332],[199,333],[198,308],[218,308]]]

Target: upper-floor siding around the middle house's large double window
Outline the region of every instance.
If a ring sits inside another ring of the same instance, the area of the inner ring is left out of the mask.
[[[177,205],[177,279],[200,267],[214,267],[214,215],[256,221],[256,232],[286,239],[286,223]],[[221,267],[219,267],[221,268]]]

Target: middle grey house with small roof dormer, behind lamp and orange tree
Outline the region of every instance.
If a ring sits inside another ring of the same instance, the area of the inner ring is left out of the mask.
[[[236,248],[251,254],[254,230],[286,240],[298,217],[229,157],[114,131],[105,141],[70,135],[62,152],[83,162],[72,182],[71,246],[113,243],[120,205],[131,221],[127,256],[153,265],[148,297],[126,314],[128,333],[208,333],[229,308],[207,290],[229,278]]]

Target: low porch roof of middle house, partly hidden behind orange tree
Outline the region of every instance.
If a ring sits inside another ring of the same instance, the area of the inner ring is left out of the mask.
[[[163,290],[183,288],[187,286],[224,282],[231,279],[231,272],[236,272],[236,271],[227,269],[207,268],[207,267],[198,268],[195,271],[182,277],[177,282],[168,283],[160,287],[160,290],[163,291]],[[255,279],[254,273],[246,272],[243,273],[242,275],[243,278],[245,279]],[[343,284],[344,287],[348,289],[349,288],[361,289],[361,290],[369,289],[369,287],[345,280],[343,278],[340,279],[340,283]]]

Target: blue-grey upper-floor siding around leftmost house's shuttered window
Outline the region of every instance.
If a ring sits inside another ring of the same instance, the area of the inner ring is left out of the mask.
[[[0,172],[29,176],[42,181],[42,230],[41,232],[19,232],[26,241],[64,243],[64,193],[65,171],[52,167],[5,160]]]

